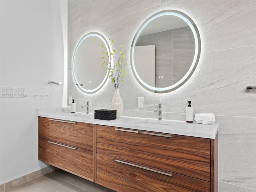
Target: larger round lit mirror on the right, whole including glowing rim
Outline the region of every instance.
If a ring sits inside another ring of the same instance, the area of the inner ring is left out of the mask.
[[[176,10],[158,12],[148,18],[134,36],[133,74],[152,92],[175,90],[194,72],[200,47],[198,29],[191,18]]]

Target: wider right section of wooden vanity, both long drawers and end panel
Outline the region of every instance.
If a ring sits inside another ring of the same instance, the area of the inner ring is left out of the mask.
[[[216,143],[97,125],[96,182],[118,192],[217,192]]]

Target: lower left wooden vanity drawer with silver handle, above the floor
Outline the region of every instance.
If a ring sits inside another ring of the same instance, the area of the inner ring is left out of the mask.
[[[39,138],[38,159],[53,166],[65,168],[88,178],[93,178],[93,152],[59,144]]]

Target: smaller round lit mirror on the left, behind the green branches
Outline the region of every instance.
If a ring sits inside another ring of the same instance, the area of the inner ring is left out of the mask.
[[[77,86],[83,92],[98,91],[108,78],[105,68],[101,66],[102,45],[106,47],[110,55],[106,39],[101,34],[93,32],[86,34],[75,48],[72,72]]]

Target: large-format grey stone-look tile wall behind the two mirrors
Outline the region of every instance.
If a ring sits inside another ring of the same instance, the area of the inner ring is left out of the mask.
[[[124,116],[157,118],[156,103],[162,103],[163,119],[185,120],[186,101],[194,113],[214,113],[219,128],[220,192],[256,190],[256,0],[69,0],[68,1],[68,96],[94,109],[110,108],[114,87],[110,81],[97,93],[84,94],[74,83],[72,54],[88,32],[130,50],[140,25],[160,10],[184,12],[198,27],[201,55],[191,78],[170,93],[156,94],[136,82],[126,67],[120,94]],[[127,55],[129,61],[129,55]],[[138,108],[138,97],[144,108]]]

